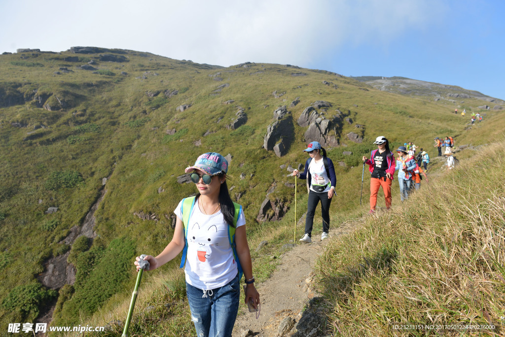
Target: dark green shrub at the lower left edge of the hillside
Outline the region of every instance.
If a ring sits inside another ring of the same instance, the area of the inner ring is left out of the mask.
[[[56,291],[45,290],[39,283],[18,285],[2,301],[2,307],[17,313],[22,320],[33,321],[39,314],[39,306],[56,295]]]

